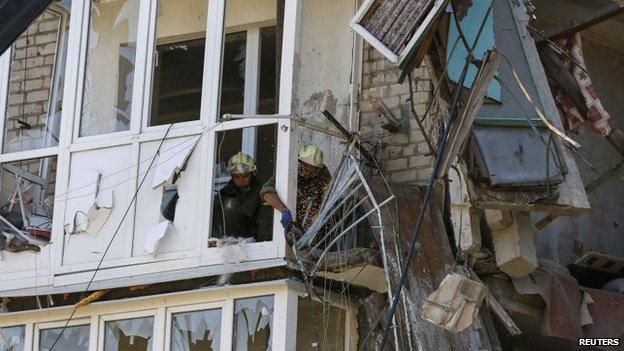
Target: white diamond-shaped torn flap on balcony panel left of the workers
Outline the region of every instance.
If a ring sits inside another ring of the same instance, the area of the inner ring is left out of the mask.
[[[154,178],[152,180],[153,189],[163,184],[174,183],[174,177],[184,169],[198,141],[199,136],[191,137],[168,150],[162,151],[158,155]]]

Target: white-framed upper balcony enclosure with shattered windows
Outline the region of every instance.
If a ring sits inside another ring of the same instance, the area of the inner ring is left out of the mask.
[[[31,234],[0,251],[2,289],[88,281],[104,254],[96,280],[227,263],[212,220],[241,150],[292,203],[290,121],[274,115],[290,113],[297,4],[50,5],[0,58],[0,214]],[[269,221],[241,269],[285,256]]]

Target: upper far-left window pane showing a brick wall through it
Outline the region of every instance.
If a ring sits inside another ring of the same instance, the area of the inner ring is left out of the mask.
[[[70,7],[50,5],[13,45],[4,153],[58,145]]]

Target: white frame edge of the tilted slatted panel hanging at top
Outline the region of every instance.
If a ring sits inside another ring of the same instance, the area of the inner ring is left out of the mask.
[[[403,48],[401,52],[394,52],[360,24],[360,22],[375,1],[376,0],[366,0],[362,4],[362,6],[360,6],[360,9],[357,11],[353,19],[351,19],[351,22],[349,22],[349,26],[356,33],[361,35],[364,40],[366,40],[375,49],[377,49],[377,51],[379,51],[388,60],[390,60],[390,62],[394,63],[397,66],[403,66],[406,63],[405,60],[411,55],[413,50],[415,50],[418,44],[420,44],[420,42],[424,39],[424,34],[431,29],[436,18],[438,17],[438,15],[441,14],[444,7],[446,7],[449,2],[449,0],[435,0],[433,7],[429,10],[427,15],[423,19],[423,23],[416,28],[416,32],[407,42],[405,48]]]

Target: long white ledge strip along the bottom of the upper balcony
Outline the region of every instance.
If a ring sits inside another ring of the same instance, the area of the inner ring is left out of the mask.
[[[270,259],[250,261],[237,264],[235,266],[229,265],[215,265],[204,266],[197,268],[181,269],[177,271],[167,272],[154,272],[148,274],[135,275],[125,278],[115,278],[106,280],[94,280],[89,286],[89,291],[100,289],[114,289],[123,288],[134,285],[143,284],[155,284],[165,281],[176,281],[184,279],[193,279],[201,277],[210,277],[226,273],[239,273],[259,268],[275,268],[287,266],[288,261],[285,259]],[[87,287],[87,283],[80,284],[68,284],[59,286],[38,286],[36,288],[25,288],[1,291],[0,297],[24,297],[24,296],[38,296],[38,295],[52,295],[52,294],[64,294],[83,292]]]

